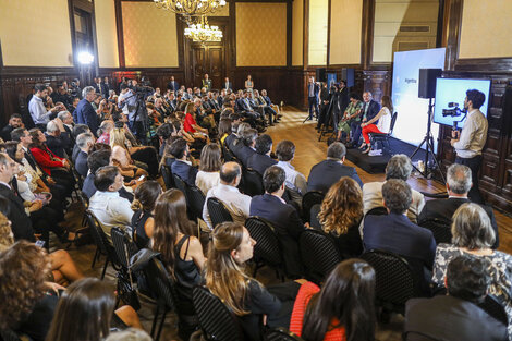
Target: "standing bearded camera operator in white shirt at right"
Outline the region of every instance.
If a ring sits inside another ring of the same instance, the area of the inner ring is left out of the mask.
[[[455,163],[465,165],[471,169],[473,187],[468,197],[473,203],[485,204],[478,190],[478,170],[481,165],[481,149],[487,139],[487,119],[479,110],[485,102],[486,96],[476,90],[466,92],[464,109],[467,110],[467,119],[464,122],[462,132],[452,131],[450,144],[455,148]]]

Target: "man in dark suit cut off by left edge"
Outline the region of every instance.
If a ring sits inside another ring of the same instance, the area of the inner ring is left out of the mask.
[[[9,200],[7,217],[11,220],[14,239],[35,242],[31,218],[25,211],[23,199],[16,195],[11,186],[11,180],[17,171],[17,163],[7,154],[0,153],[0,196]],[[40,203],[40,202],[39,202]]]

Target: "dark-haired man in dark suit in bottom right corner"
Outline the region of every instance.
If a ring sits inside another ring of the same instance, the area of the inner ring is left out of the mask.
[[[477,306],[489,290],[489,261],[461,255],[448,264],[448,295],[405,304],[404,340],[509,340],[507,326]],[[485,337],[483,337],[485,336]]]

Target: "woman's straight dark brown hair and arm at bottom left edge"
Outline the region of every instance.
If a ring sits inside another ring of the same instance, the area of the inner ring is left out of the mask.
[[[114,308],[115,296],[108,283],[96,278],[77,281],[59,300],[46,340],[101,341],[115,325],[142,329],[131,306]]]

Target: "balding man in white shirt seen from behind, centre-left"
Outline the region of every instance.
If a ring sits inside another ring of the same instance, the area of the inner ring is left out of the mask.
[[[231,214],[234,222],[244,224],[245,219],[249,216],[251,196],[240,193],[236,186],[242,179],[242,169],[236,162],[225,162],[220,169],[220,183],[211,187],[206,195],[205,206],[203,207],[203,220],[206,221],[208,228],[214,229],[210,214],[208,211],[208,198],[215,197],[224,204]]]

